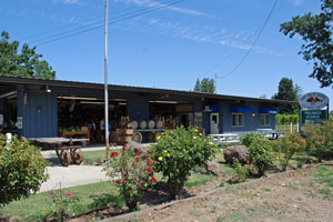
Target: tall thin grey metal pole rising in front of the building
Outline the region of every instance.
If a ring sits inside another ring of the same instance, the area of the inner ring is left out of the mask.
[[[109,20],[109,0],[105,0],[105,23],[104,23],[104,99],[105,99],[105,149],[107,160],[110,160],[109,148],[109,97],[108,97],[108,20]]]

